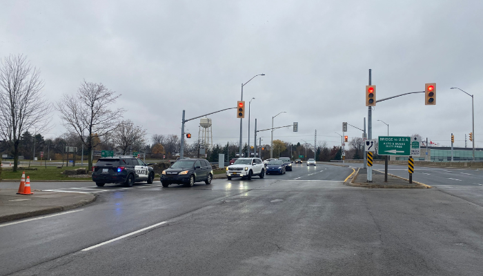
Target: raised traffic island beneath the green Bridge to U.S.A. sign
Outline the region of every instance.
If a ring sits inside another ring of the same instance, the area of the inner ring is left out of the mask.
[[[388,174],[387,182],[384,182],[384,171],[373,170],[373,181],[367,182],[367,169],[359,168],[355,170],[352,179],[346,181],[346,185],[362,188],[431,188],[426,184],[413,181],[409,184],[408,179]]]

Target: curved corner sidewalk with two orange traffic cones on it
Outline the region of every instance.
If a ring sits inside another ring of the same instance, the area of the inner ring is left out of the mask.
[[[95,195],[32,190],[33,195],[17,195],[17,189],[0,189],[0,223],[37,215],[61,212],[95,201]]]

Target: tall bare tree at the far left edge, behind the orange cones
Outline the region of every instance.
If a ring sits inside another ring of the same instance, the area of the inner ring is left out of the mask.
[[[32,68],[23,55],[10,55],[0,66],[0,135],[14,157],[13,171],[19,163],[20,136],[28,129],[48,131],[52,104],[41,92],[40,70]]]

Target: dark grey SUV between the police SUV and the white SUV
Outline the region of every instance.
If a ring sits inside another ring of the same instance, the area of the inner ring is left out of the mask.
[[[193,187],[195,182],[205,181],[211,184],[213,169],[210,162],[205,159],[181,159],[161,172],[161,184],[168,187],[170,184],[185,184]]]

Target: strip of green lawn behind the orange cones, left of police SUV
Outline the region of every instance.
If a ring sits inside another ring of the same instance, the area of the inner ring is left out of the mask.
[[[88,180],[90,177],[68,177],[67,175],[61,175],[64,170],[74,170],[81,168],[80,166],[75,167],[63,167],[57,168],[56,166],[30,166],[30,168],[37,168],[37,170],[25,170],[25,177],[30,177],[30,182],[36,180]],[[83,167],[87,168],[87,167]],[[20,181],[22,177],[23,168],[19,168],[17,172],[3,168],[1,172],[1,179],[13,179]],[[88,172],[90,175],[90,172]]]

